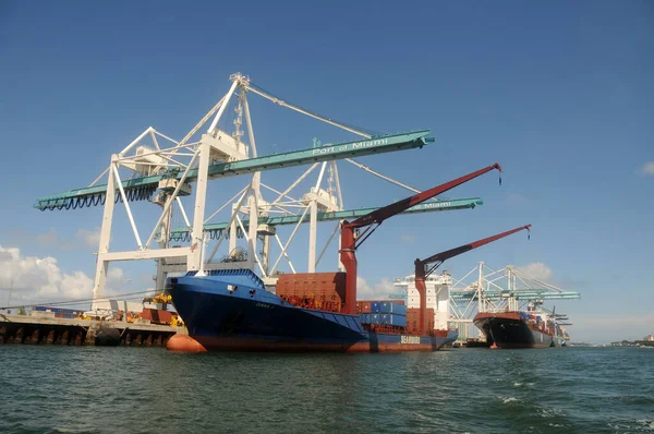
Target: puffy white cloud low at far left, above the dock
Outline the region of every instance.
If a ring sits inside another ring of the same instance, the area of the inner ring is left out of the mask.
[[[90,297],[93,280],[83,272],[63,273],[51,256],[23,256],[20,249],[0,245],[0,288],[12,288],[12,297]],[[4,300],[3,300],[4,301]]]

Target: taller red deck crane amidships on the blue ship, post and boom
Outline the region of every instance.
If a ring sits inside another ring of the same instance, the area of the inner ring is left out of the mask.
[[[434,186],[429,190],[425,190],[424,192],[414,194],[411,197],[407,197],[390,205],[375,209],[374,212],[366,214],[365,216],[362,216],[354,221],[343,221],[341,224],[341,249],[339,252],[340,262],[346,267],[347,273],[346,313],[351,315],[356,314],[356,249],[359,249],[359,246],[375,231],[375,229],[379,227],[379,225],[382,225],[384,220],[397,214],[400,214],[414,205],[423,203],[437,194],[445,193],[446,191],[451,190],[455,186],[461,185],[464,182],[468,182],[486,172],[489,172],[493,169],[497,169],[501,172],[501,167],[496,162],[475,172],[465,174],[461,178],[457,178],[453,181]],[[363,230],[363,232],[360,233],[358,229],[361,228],[365,229]]]

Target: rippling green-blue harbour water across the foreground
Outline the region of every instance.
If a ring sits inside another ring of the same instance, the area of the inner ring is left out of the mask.
[[[0,346],[0,433],[654,433],[654,349]]]

